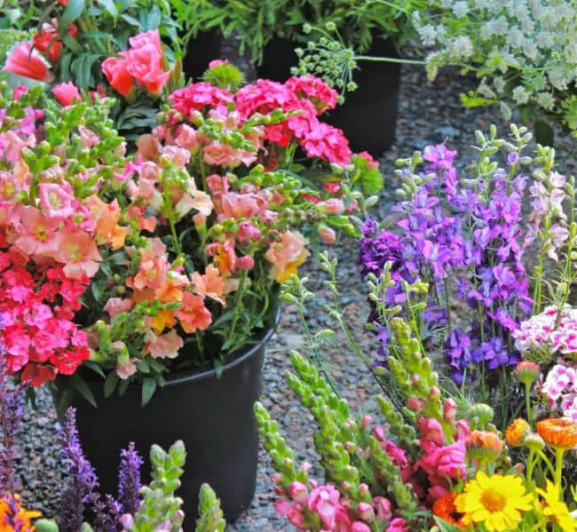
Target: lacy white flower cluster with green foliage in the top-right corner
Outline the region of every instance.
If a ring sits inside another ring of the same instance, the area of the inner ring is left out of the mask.
[[[429,0],[414,13],[434,77],[439,67],[473,68],[478,94],[577,116],[577,0]],[[505,106],[508,107],[508,106]],[[570,125],[571,127],[571,125]]]

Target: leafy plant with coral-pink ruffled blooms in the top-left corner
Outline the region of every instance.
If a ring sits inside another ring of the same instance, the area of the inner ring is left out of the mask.
[[[59,86],[55,96],[64,104],[70,103],[72,86],[114,96],[115,127],[130,140],[154,126],[162,95],[184,84],[167,2],[70,0],[51,3],[46,12],[31,9],[28,27],[36,20],[38,26],[12,48],[4,72],[17,82]]]

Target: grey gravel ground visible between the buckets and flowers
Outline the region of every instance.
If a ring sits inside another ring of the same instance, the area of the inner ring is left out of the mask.
[[[473,82],[459,78],[454,73],[440,75],[436,83],[428,83],[423,70],[417,67],[403,69],[399,103],[399,123],[397,141],[391,150],[383,155],[382,169],[386,178],[386,190],[377,207],[377,217],[383,217],[392,202],[391,191],[397,186],[393,170],[394,162],[400,156],[407,157],[416,149],[427,144],[447,140],[450,147],[466,149],[474,140],[476,129],[487,131],[491,123],[503,124],[500,116],[484,108],[464,109],[459,103],[459,93],[472,88]],[[505,131],[503,125],[500,131]],[[565,162],[574,170],[572,157],[565,155]],[[374,340],[363,334],[363,326],[368,314],[368,306],[356,268],[356,246],[354,242],[338,242],[333,254],[339,258],[338,276],[343,294],[344,313],[360,345],[369,350]],[[312,330],[330,326],[321,308],[327,303],[328,292],[322,287],[324,274],[318,263],[309,261],[302,268],[302,274],[309,277],[309,288],[316,290],[318,298],[307,312],[307,320]],[[312,445],[314,422],[306,410],[300,406],[288,388],[284,374],[290,369],[288,349],[298,348],[302,343],[302,331],[296,311],[287,307],[282,314],[281,325],[271,342],[266,356],[265,393],[262,402],[278,421],[281,433],[295,449],[299,460],[315,462]],[[344,348],[345,343],[327,350],[331,373],[342,395],[354,408],[372,409],[375,387],[369,380],[366,369],[353,353]],[[23,484],[22,496],[29,506],[51,514],[58,501],[62,482],[59,448],[55,443],[58,429],[51,399],[48,393],[38,394],[37,410],[28,412],[22,430],[23,453],[19,464]],[[280,520],[273,508],[273,486],[270,476],[273,470],[268,457],[261,450],[258,472],[257,496],[249,510],[231,524],[227,530],[245,532],[266,530],[276,532],[292,530],[286,521]]]

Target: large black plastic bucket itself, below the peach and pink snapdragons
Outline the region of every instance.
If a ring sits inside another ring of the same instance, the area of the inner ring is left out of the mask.
[[[186,467],[177,495],[184,500],[185,530],[194,529],[198,493],[208,482],[220,498],[225,518],[235,520],[249,507],[257,483],[258,432],[253,406],[262,393],[265,344],[271,328],[254,345],[225,364],[217,378],[214,369],[169,378],[152,400],[140,406],[140,386],[130,386],[119,397],[105,399],[99,382],[91,385],[98,401],[95,409],[76,395],[78,433],[86,457],[99,476],[103,493],[115,495],[121,449],[130,441],[146,458],[150,447],[168,449],[177,440],[186,446]]]

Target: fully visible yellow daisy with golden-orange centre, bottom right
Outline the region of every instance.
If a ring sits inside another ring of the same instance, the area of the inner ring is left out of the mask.
[[[517,530],[521,512],[531,510],[534,496],[527,494],[525,484],[514,475],[489,477],[479,471],[465,484],[462,494],[454,499],[462,523],[483,523],[489,532]]]

